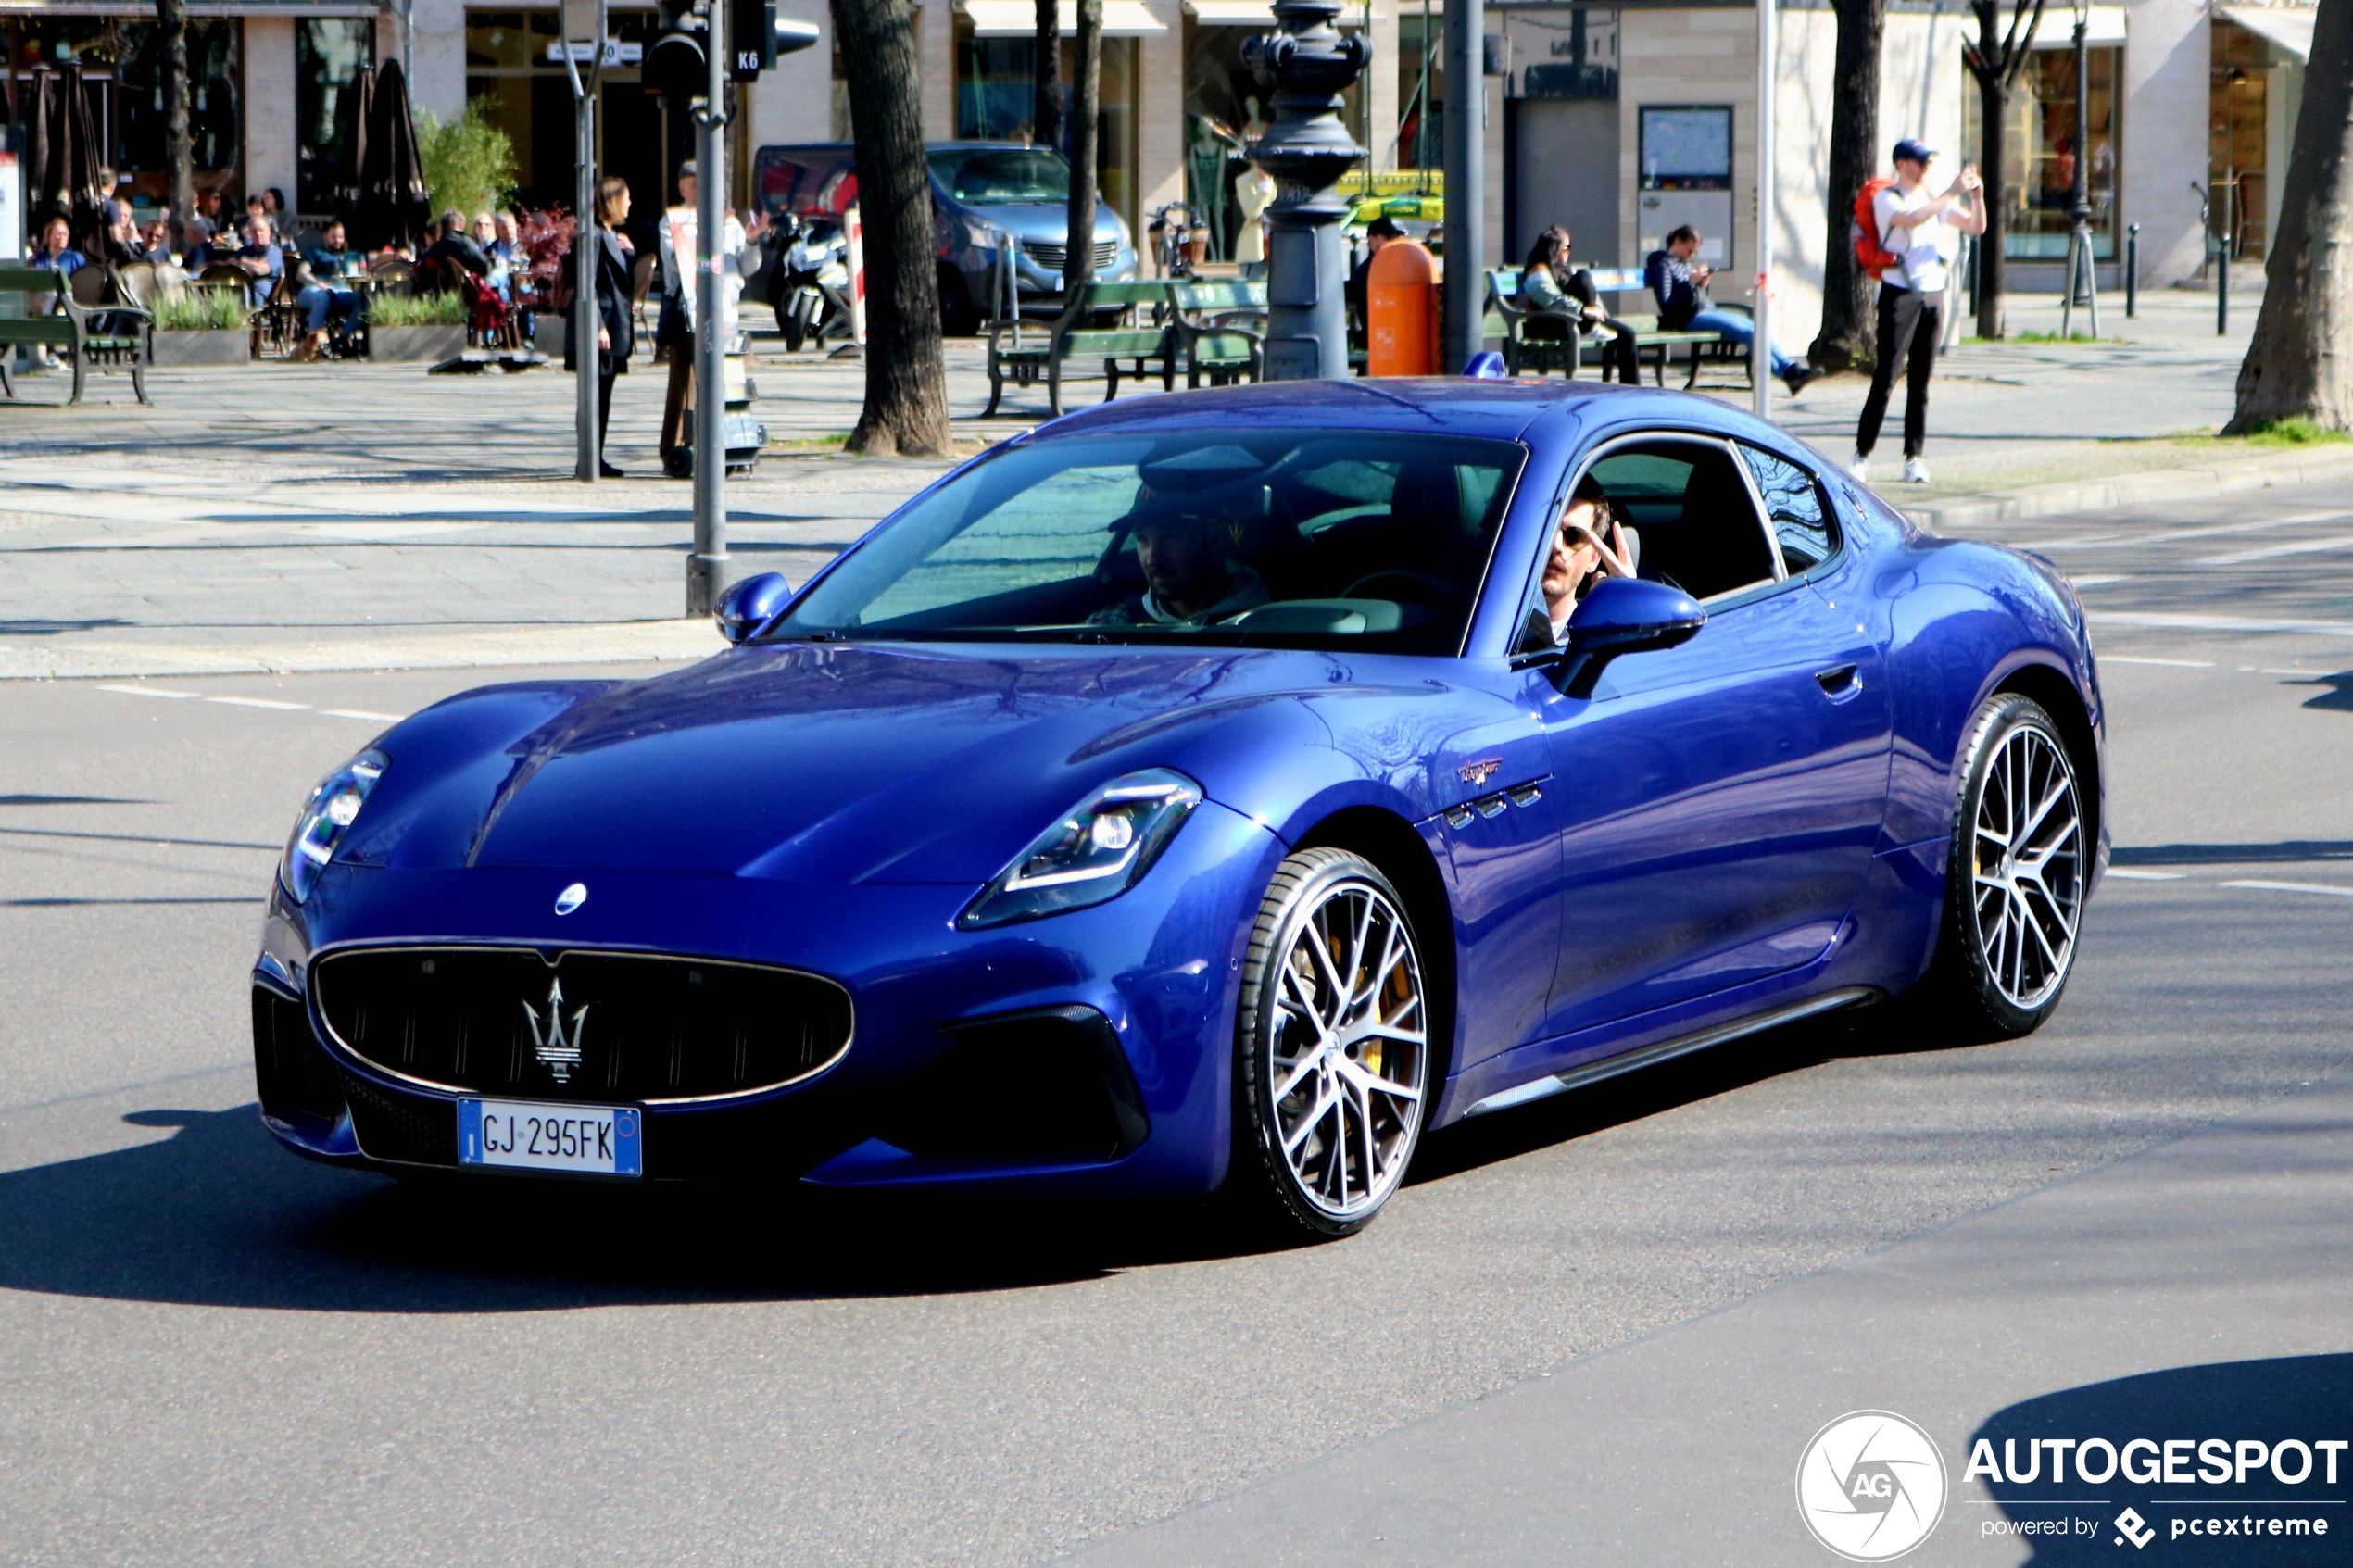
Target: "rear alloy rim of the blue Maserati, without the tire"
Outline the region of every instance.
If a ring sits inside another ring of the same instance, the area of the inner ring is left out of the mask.
[[[2002,736],[1977,802],[1972,903],[1986,976],[2035,1011],[2066,983],[2082,912],[2075,771],[2038,724]]]

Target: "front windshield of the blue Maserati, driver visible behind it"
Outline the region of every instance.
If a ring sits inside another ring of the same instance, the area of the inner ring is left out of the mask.
[[[913,501],[769,635],[1454,654],[1525,456],[1395,430],[1026,442]]]

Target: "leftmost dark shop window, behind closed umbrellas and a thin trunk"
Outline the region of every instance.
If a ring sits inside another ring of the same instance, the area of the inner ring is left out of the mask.
[[[238,195],[245,160],[245,24],[233,16],[188,19],[188,134],[198,188]],[[9,19],[0,28],[0,68],[16,80],[19,103],[40,66],[80,66],[89,120],[108,162],[129,174],[134,207],[169,202],[162,158],[162,40],[153,21],[122,16]]]

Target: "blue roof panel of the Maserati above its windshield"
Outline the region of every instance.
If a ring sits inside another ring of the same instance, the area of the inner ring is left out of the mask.
[[[1040,437],[1106,435],[1113,430],[1217,430],[1235,423],[1348,430],[1426,430],[1522,440],[1529,425],[1555,416],[1638,416],[1727,428],[1737,409],[1692,393],[1605,386],[1598,381],[1478,381],[1471,376],[1405,376],[1348,381],[1266,381],[1200,393],[1132,397],[1071,414],[1038,430]],[[1584,418],[1579,418],[1584,423]]]

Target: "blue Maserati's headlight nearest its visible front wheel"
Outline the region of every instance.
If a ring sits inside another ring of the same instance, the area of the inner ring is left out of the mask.
[[[1200,785],[1184,773],[1148,769],[1113,778],[1014,856],[955,924],[974,931],[1118,898],[1198,804]]]

